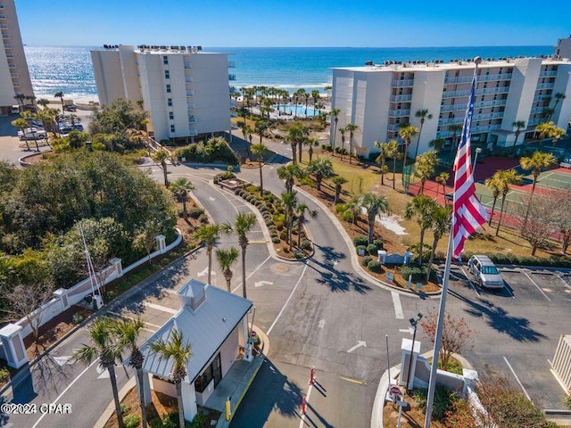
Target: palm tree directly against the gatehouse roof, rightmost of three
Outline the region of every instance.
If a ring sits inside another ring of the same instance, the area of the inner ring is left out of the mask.
[[[180,428],[185,427],[185,407],[182,404],[182,381],[186,377],[186,365],[191,357],[190,343],[186,343],[182,333],[179,333],[176,328],[170,332],[170,337],[167,342],[162,339],[151,343],[151,350],[158,354],[159,358],[174,360],[172,368],[172,380],[177,387],[177,401],[178,401],[178,425]]]

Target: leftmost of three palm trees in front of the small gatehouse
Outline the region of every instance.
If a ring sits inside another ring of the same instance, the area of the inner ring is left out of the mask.
[[[105,317],[95,318],[95,321],[89,325],[87,334],[91,343],[84,343],[79,350],[75,350],[71,360],[89,365],[94,358],[99,358],[99,366],[109,372],[117,422],[120,428],[125,428],[115,377],[115,365],[120,360],[120,352],[112,334],[112,321]]]

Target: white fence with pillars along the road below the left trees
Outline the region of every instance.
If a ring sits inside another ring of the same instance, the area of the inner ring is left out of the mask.
[[[163,235],[157,235],[157,251],[153,251],[150,255],[145,256],[143,259],[138,259],[136,262],[129,265],[127,268],[121,267],[121,259],[110,260],[111,265],[107,268],[103,268],[102,271],[97,273],[97,283],[99,286],[111,283],[114,279],[123,276],[130,270],[137,268],[148,261],[161,254],[164,254],[173,248],[177,247],[182,241],[182,234],[177,229],[177,239],[175,239],[169,245],[165,244],[165,237]],[[73,285],[70,288],[60,288],[54,292],[54,299],[49,300],[40,308],[32,312],[32,319],[39,319],[39,326],[45,325],[52,318],[60,315],[64,310],[69,309],[71,305],[79,303],[83,300],[87,294],[91,294],[94,291],[94,285],[92,285],[91,278],[86,278],[80,281],[78,284]],[[37,315],[36,315],[37,314]],[[29,325],[27,317],[21,318],[19,321],[13,323],[21,327],[21,337],[24,338],[32,333],[32,327]],[[0,347],[0,358],[5,358],[4,347]]]

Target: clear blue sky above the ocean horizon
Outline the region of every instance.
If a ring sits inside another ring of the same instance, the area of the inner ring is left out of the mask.
[[[28,45],[554,45],[569,36],[571,2],[514,3],[16,0]]]

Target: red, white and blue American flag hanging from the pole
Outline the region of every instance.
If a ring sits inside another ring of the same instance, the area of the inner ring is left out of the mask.
[[[462,136],[454,161],[456,175],[454,177],[454,202],[452,205],[452,252],[454,258],[457,259],[464,248],[464,241],[476,232],[478,226],[484,225],[488,217],[484,206],[476,197],[476,185],[474,185],[474,177],[472,177],[472,161],[470,158],[470,127],[474,115],[477,70],[476,65],[468,100],[468,110],[464,118]]]

